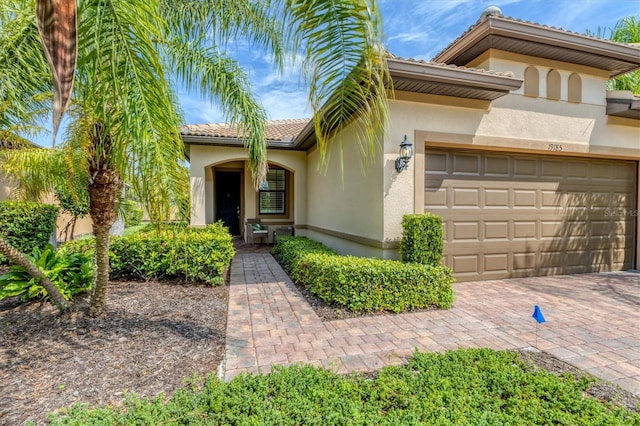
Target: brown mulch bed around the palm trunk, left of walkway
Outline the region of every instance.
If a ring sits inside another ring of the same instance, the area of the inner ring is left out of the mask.
[[[118,405],[126,392],[171,395],[216,373],[228,286],[112,282],[107,312],[61,316],[50,304],[0,302],[0,424],[46,423],[76,402]]]

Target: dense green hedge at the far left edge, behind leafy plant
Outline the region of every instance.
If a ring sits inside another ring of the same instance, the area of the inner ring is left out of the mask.
[[[58,207],[51,204],[2,201],[0,202],[0,233],[22,253],[34,248],[44,249],[56,228]],[[9,259],[0,254],[0,263]]]

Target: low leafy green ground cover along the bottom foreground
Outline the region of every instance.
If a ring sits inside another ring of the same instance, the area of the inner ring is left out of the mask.
[[[594,379],[535,371],[513,352],[416,353],[376,377],[293,366],[225,383],[197,379],[164,400],[77,405],[53,425],[640,425],[640,415],[585,395]]]

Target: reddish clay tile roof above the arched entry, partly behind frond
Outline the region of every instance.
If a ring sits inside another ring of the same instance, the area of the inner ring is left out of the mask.
[[[309,118],[267,121],[267,140],[289,142],[300,134],[309,123]],[[180,127],[182,136],[203,136],[221,139],[242,139],[238,126],[228,123],[190,124]]]

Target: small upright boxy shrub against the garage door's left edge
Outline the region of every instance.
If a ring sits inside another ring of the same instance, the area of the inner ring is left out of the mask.
[[[442,264],[442,218],[425,214],[402,217],[400,256],[404,262],[437,266]]]

